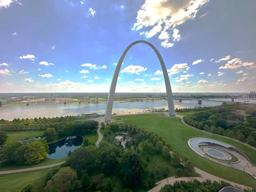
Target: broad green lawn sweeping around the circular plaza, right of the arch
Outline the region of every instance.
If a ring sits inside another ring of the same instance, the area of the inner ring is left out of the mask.
[[[162,117],[159,114],[141,114],[126,115],[123,121],[128,124],[135,124],[138,127],[145,128],[158,134],[171,145],[172,150],[177,150],[182,156],[188,156],[197,168],[202,169],[205,172],[239,184],[256,187],[256,182],[253,177],[250,177],[239,170],[205,159],[192,151],[192,149],[189,148],[187,141],[194,137],[205,137],[223,141],[240,149],[251,159],[251,161],[256,162],[256,151],[248,146],[228,138],[189,128],[181,122],[180,118]]]

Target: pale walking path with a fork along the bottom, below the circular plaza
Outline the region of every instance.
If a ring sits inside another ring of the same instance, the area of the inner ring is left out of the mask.
[[[220,177],[216,177],[216,176],[214,176],[212,174],[204,172],[201,169],[198,169],[197,167],[195,167],[195,172],[200,174],[201,177],[179,177],[179,178],[175,178],[174,176],[173,177],[169,177],[169,178],[166,178],[166,179],[163,179],[163,180],[157,182],[159,184],[156,185],[156,187],[154,187],[153,189],[149,190],[148,192],[158,192],[161,189],[161,187],[164,187],[164,185],[166,185],[166,184],[174,184],[174,182],[176,182],[176,181],[186,181],[186,182],[188,182],[188,181],[193,181],[195,179],[197,179],[200,182],[203,182],[206,179],[210,179],[212,182],[213,181],[217,181],[217,182],[224,181],[224,182],[230,183],[234,187],[241,188],[241,189],[247,189],[247,190],[249,189],[249,190],[251,190],[251,187],[248,187],[248,186],[245,186],[245,185],[242,185],[242,184],[238,184],[238,183],[234,183],[234,182],[230,182],[230,181],[225,180],[225,179],[221,179]]]

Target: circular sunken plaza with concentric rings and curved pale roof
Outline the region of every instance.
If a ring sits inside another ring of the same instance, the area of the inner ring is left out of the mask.
[[[227,143],[197,137],[189,139],[188,145],[200,156],[218,164],[240,169],[256,178],[256,167],[251,164],[248,157],[242,151]]]

